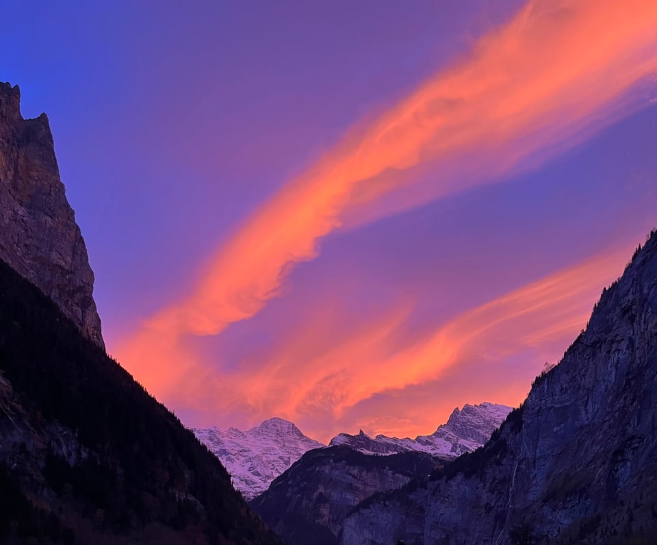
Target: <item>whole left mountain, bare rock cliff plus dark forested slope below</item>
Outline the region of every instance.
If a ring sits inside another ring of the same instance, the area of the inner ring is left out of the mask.
[[[47,118],[18,102],[0,84],[0,544],[280,544],[105,354]]]

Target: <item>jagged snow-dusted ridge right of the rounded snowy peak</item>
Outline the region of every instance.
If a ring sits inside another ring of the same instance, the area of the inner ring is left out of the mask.
[[[415,439],[389,438],[377,435],[372,439],[363,431],[358,435],[340,433],[331,440],[331,446],[344,445],[364,454],[393,454],[417,451],[449,458],[469,453],[489,440],[491,433],[502,424],[511,407],[481,403],[454,409],[446,424],[431,435],[418,435]]]

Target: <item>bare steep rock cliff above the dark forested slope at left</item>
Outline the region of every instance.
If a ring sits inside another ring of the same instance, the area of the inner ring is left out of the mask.
[[[18,86],[0,83],[0,258],[104,348],[94,273],[60,180],[48,118],[23,119]]]

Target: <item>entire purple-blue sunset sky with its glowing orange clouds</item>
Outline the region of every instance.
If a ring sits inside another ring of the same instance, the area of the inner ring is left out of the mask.
[[[653,0],[2,11],[107,351],[190,427],[517,406],[657,227]]]

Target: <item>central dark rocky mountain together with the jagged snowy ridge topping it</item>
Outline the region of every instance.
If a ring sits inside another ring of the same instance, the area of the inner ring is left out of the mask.
[[[474,451],[511,407],[482,403],[454,409],[432,435],[414,440],[341,433],[311,451],[250,503],[292,545],[336,545],[348,513],[372,494],[426,477],[446,460]]]

